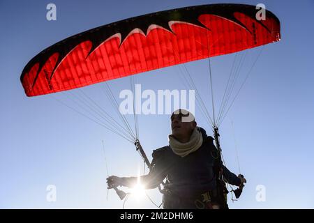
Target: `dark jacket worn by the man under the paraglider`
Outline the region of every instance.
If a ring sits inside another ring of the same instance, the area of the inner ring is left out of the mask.
[[[154,188],[166,178],[164,201],[170,198],[172,200],[193,199],[203,192],[216,190],[217,171],[215,168],[218,166],[223,169],[223,176],[228,183],[240,185],[241,180],[220,161],[217,148],[213,143],[214,139],[207,136],[204,129],[200,128],[200,130],[203,137],[202,146],[185,157],[173,153],[170,146],[158,148],[153,152],[149,174],[142,176],[141,182],[147,188]],[[164,206],[164,208],[167,207]],[[172,208],[184,207],[180,205],[172,206]]]

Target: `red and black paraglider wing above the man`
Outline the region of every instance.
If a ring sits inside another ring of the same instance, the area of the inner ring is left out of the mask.
[[[178,8],[100,26],[48,47],[24,68],[27,96],[75,89],[280,40],[280,22],[255,6]]]

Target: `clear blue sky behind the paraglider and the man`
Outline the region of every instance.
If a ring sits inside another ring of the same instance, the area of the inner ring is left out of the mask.
[[[239,173],[237,146],[241,174],[248,180],[241,199],[229,200],[230,208],[314,208],[314,3],[229,2],[264,3],[281,20],[281,41],[264,48],[220,126],[227,167]],[[57,6],[54,22],[45,18],[47,3],[51,2],[0,1],[0,208],[122,208],[123,202],[113,191],[106,199],[105,160],[110,175],[136,176],[143,163],[134,146],[50,95],[27,98],[20,84],[22,69],[41,50],[87,29],[159,10],[218,1],[53,1]],[[252,50],[252,54],[256,52]],[[218,99],[227,79],[220,73],[230,69],[232,59],[232,55],[212,59]],[[204,85],[207,63],[186,65],[204,98],[210,98],[208,85]],[[246,63],[251,63],[250,58]],[[184,89],[174,75],[176,71],[172,67],[137,75],[137,83],[154,91]],[[129,84],[125,79],[110,82],[117,98]],[[92,87],[89,90],[94,91]],[[210,100],[206,102],[211,111]],[[103,103],[110,111],[110,104]],[[201,113],[196,111],[195,115],[198,124],[211,134]],[[139,127],[142,145],[151,159],[154,149],[167,145],[169,116],[141,115]],[[56,202],[47,202],[47,185],[56,185]],[[257,185],[266,188],[264,202],[255,199]],[[158,190],[147,193],[160,203]],[[146,197],[130,197],[125,207],[154,205]]]

